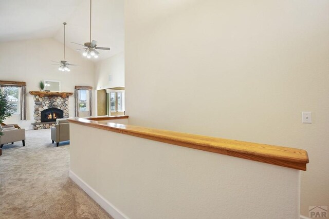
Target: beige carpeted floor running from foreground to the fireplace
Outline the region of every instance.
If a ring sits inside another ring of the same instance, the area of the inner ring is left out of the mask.
[[[27,130],[0,156],[0,218],[112,218],[68,177],[69,142]]]

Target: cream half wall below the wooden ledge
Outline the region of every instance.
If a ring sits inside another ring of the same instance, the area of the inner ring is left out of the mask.
[[[70,177],[115,218],[299,218],[299,170],[74,123]]]

